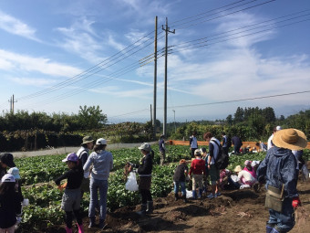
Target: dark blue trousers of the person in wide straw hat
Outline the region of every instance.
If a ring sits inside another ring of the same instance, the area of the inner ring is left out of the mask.
[[[288,232],[294,228],[294,208],[292,207],[292,198],[284,199],[282,213],[269,209],[269,224],[275,224],[281,231]]]

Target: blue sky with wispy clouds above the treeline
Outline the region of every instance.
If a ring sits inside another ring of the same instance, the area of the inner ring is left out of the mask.
[[[0,1],[0,111],[150,121],[158,16],[157,119],[163,119],[168,17],[168,122],[226,118],[240,107],[276,116],[310,108],[308,0]],[[161,50],[160,50],[161,49]],[[236,101],[255,99],[252,101]],[[227,102],[233,101],[233,102]],[[217,103],[222,102],[222,103]],[[216,103],[216,104],[215,104]]]

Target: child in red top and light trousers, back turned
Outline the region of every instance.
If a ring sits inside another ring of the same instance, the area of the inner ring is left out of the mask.
[[[202,159],[201,150],[196,149],[195,151],[196,158],[191,161],[191,169],[190,174],[192,175],[192,198],[197,198],[196,188],[197,185],[199,186],[199,193],[198,197],[202,197],[202,191],[203,191],[203,175],[206,175],[206,169],[205,169],[205,162]]]

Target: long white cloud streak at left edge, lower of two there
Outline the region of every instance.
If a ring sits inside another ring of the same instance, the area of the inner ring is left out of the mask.
[[[80,69],[52,62],[48,58],[33,58],[0,49],[0,68],[10,71],[36,71],[51,76],[71,77],[81,72]],[[6,66],[5,66],[6,65]]]

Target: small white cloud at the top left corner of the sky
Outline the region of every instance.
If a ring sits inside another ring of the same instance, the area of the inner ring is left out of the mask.
[[[0,28],[8,33],[40,42],[40,40],[36,38],[36,29],[27,26],[26,23],[13,16],[6,15],[2,11],[0,11]]]

